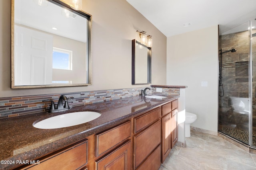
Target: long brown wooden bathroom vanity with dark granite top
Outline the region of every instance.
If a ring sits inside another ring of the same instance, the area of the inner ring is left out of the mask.
[[[16,143],[11,142],[13,136],[3,134],[0,137],[6,145],[0,146],[1,159],[34,163],[1,164],[1,168],[157,170],[178,140],[178,98],[134,96],[74,107],[72,112],[97,110],[102,115],[81,125],[59,129],[32,126],[34,121],[49,113],[24,116],[22,122],[18,122],[18,118],[1,119],[4,125],[1,130],[11,129],[17,123],[20,126],[20,130],[10,132],[16,135]],[[19,137],[20,132],[29,135]]]

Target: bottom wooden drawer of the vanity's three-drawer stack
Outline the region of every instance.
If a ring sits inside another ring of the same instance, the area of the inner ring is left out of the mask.
[[[148,159],[136,170],[158,170],[161,166],[161,145],[159,145]]]

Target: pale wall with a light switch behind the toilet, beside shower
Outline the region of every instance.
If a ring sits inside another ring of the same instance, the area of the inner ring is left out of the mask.
[[[186,85],[192,124],[218,131],[218,25],[167,38],[167,84]],[[202,81],[208,86],[202,87]]]

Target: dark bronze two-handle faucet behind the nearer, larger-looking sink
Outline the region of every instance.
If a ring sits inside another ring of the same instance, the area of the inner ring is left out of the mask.
[[[68,105],[68,100],[73,98],[74,97],[67,98],[65,95],[61,95],[59,98],[57,107],[54,106],[54,102],[52,100],[43,100],[43,102],[51,102],[51,106],[48,113],[54,113],[58,111],[65,111],[65,110],[71,109],[71,107]],[[64,106],[63,106],[63,100],[65,101]]]

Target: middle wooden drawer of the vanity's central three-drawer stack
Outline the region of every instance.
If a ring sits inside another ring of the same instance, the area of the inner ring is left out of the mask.
[[[134,136],[134,169],[161,143],[161,121]],[[161,156],[159,156],[160,158]]]

